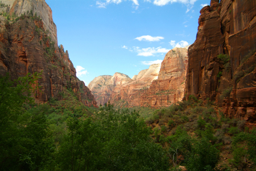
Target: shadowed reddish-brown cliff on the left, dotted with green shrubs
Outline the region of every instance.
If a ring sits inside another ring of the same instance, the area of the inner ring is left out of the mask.
[[[51,11],[46,2],[40,0],[14,1],[13,5],[10,4],[10,9],[22,8],[19,4],[26,7],[26,10],[29,6],[32,6],[30,9],[40,10],[37,4],[42,6],[41,12]],[[47,26],[44,20],[35,15],[23,15],[9,22],[0,16],[0,21],[1,75],[9,72],[11,78],[16,79],[27,73],[42,72],[42,78],[37,83],[41,88],[34,94],[37,102],[44,103],[50,98],[62,99],[60,94],[63,89],[71,89],[86,106],[97,106],[89,89],[76,77],[76,69],[69,60],[68,52],[63,51],[62,45],[58,48],[53,40],[55,31],[46,30],[51,24]],[[48,21],[51,23],[51,15],[48,15]]]

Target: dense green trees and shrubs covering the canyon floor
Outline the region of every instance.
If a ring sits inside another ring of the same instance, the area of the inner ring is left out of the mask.
[[[67,89],[62,101],[36,105],[37,77],[0,77],[0,170],[213,171],[256,162],[256,131],[221,112],[218,118],[210,101],[191,95],[163,109],[92,109]]]

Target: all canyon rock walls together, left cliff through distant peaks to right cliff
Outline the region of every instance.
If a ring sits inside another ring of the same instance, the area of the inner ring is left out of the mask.
[[[0,7],[0,74],[12,80],[41,73],[33,97],[61,100],[71,90],[86,106],[167,107],[191,95],[212,101],[225,116],[256,125],[256,2],[212,0],[200,11],[195,43],[169,51],[162,64],[133,78],[115,73],[85,86],[43,0],[4,0]],[[7,19],[9,14],[11,19]]]

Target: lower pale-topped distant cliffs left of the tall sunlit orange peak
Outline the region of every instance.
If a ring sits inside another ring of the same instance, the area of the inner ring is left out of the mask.
[[[160,64],[153,64],[131,79],[126,74],[115,73],[114,76],[99,76],[88,85],[98,104],[108,101],[126,102],[126,106],[139,106],[141,91],[146,90],[153,80],[158,78]]]

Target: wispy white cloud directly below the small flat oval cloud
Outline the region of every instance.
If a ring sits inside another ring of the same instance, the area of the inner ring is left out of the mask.
[[[138,53],[138,56],[154,56],[154,54],[156,53],[167,53],[169,52],[171,49],[166,49],[166,48],[162,48],[162,47],[158,47],[158,48],[134,48],[134,51]]]

